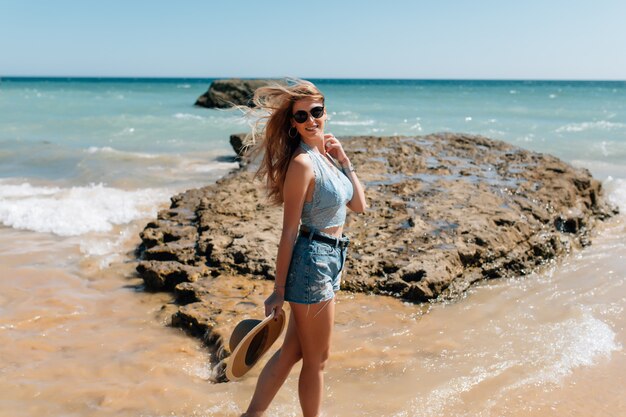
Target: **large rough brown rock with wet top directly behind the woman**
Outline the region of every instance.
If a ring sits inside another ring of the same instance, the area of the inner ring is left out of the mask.
[[[369,204],[348,214],[344,290],[414,302],[458,296],[589,244],[595,221],[615,213],[587,170],[504,142],[463,134],[342,142]],[[173,197],[141,234],[146,287],[174,289],[172,324],[214,348],[215,380],[224,379],[232,328],[263,311],[281,224],[282,209],[242,164]]]

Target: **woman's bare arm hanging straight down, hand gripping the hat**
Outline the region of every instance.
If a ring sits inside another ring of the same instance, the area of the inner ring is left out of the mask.
[[[302,207],[309,184],[314,179],[313,166],[306,154],[297,155],[289,164],[285,184],[283,185],[283,230],[276,256],[276,278],[274,291],[265,300],[265,315],[273,309],[276,313],[282,309],[285,299],[285,284],[293,254],[293,247],[298,237]]]

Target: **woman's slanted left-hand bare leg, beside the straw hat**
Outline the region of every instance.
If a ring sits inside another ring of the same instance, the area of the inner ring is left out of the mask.
[[[262,415],[287,379],[293,365],[302,358],[293,312],[290,316],[283,345],[265,364],[265,368],[259,375],[248,411],[244,416]]]

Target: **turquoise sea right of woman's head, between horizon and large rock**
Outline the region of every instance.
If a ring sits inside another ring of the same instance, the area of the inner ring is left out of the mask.
[[[340,134],[470,132],[570,162],[626,161],[626,83],[415,81],[326,91],[338,113],[329,128]]]

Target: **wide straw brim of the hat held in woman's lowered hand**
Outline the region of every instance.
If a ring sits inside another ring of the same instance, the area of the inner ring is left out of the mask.
[[[276,316],[276,320],[274,320],[274,315],[275,313],[272,311],[269,316],[250,330],[232,352],[226,363],[226,377],[230,381],[242,378],[252,369],[281,335],[285,328],[285,314],[281,313]],[[255,337],[263,331],[267,331],[266,334],[263,334],[263,339],[260,342],[259,339],[255,341]],[[248,356],[253,341],[261,343],[261,345],[255,347],[254,357],[250,359]]]

